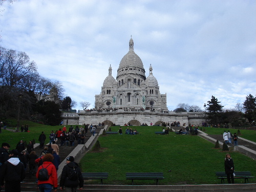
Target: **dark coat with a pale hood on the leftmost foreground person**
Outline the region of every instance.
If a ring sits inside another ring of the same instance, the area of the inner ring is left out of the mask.
[[[4,180],[7,182],[21,182],[25,176],[24,164],[19,161],[17,156],[13,156],[3,166],[0,184],[4,185]]]

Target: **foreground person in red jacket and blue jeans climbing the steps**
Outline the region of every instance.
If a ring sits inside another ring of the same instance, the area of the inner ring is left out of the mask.
[[[40,181],[38,179],[38,187],[41,192],[51,192],[52,187],[54,191],[57,191],[58,187],[58,178],[57,178],[57,172],[56,168],[54,166],[53,162],[53,155],[52,154],[46,154],[44,155],[44,158],[42,159],[43,163],[41,166],[38,167],[37,173],[36,173],[36,178],[38,178],[39,175],[39,170],[41,168],[46,168],[48,171],[49,179],[46,181]]]

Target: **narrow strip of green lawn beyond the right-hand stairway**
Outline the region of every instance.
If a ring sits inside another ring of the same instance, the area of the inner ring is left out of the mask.
[[[200,127],[199,127],[200,129]],[[232,134],[237,133],[238,129],[224,129],[224,128],[215,128],[215,127],[202,127],[202,129],[205,129],[205,133],[208,135],[222,135],[224,131],[230,131]],[[256,131],[254,130],[241,130],[241,135],[238,135],[238,137],[243,137],[244,139],[248,139],[250,141],[256,142]]]

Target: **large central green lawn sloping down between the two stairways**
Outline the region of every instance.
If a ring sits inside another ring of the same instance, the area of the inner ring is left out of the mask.
[[[163,172],[159,184],[219,184],[215,172],[224,171],[227,152],[191,135],[156,135],[159,126],[132,126],[139,135],[100,136],[101,152],[89,152],[80,161],[83,172],[108,172],[108,184],[131,184],[126,172]],[[126,129],[122,126],[123,133]],[[118,127],[112,127],[118,131]],[[256,176],[256,161],[237,152],[229,152],[237,171],[249,170]],[[169,172],[171,170],[171,172]],[[256,179],[249,179],[255,183]],[[90,183],[99,181],[90,181]],[[236,179],[236,183],[243,183]],[[135,180],[135,184],[155,184],[152,180]]]

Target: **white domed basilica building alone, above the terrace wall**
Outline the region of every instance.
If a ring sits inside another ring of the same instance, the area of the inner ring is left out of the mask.
[[[132,38],[128,53],[120,61],[116,79],[110,66],[100,94],[95,95],[95,108],[167,110],[166,94],[160,94],[151,65],[146,77],[143,63],[134,52]]]

